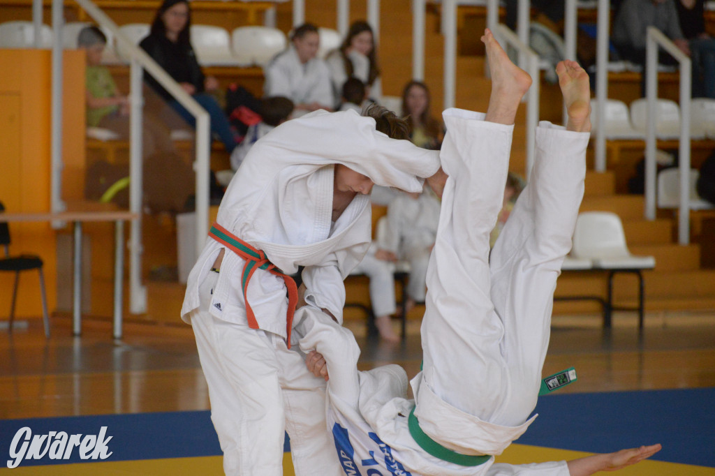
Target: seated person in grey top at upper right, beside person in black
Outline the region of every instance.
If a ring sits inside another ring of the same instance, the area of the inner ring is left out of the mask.
[[[611,41],[621,59],[645,66],[646,31],[655,26],[685,54],[690,55],[688,41],[678,23],[674,0],[623,0],[613,21]],[[675,64],[670,54],[660,51],[661,64]],[[641,88],[645,91],[645,75]]]

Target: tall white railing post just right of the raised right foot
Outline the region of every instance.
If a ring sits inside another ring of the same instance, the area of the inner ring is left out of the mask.
[[[611,22],[611,3],[598,0],[598,34],[596,36],[596,172],[606,172],[606,99],[608,98],[608,29]]]

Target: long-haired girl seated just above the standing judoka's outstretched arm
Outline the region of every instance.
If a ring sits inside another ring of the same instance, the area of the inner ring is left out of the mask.
[[[403,89],[402,114],[410,126],[410,141],[423,149],[439,149],[444,137],[441,122],[430,113],[430,90],[421,81]]]

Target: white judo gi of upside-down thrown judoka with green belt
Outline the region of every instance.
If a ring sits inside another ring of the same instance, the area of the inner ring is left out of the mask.
[[[566,462],[459,465],[423,450],[408,429],[414,411],[434,442],[461,455],[499,455],[536,417],[553,290],[583,197],[588,133],[541,123],[531,182],[491,255],[513,126],[448,109],[440,158],[449,175],[421,334],[423,372],[411,382],[396,365],[357,372],[347,329],[303,308],[303,349],[327,361],[328,425],[348,475],[566,476]]]

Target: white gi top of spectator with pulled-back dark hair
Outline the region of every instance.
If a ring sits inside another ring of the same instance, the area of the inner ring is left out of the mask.
[[[335,106],[330,71],[322,59],[313,58],[302,64],[292,45],[276,56],[265,68],[264,94],[285,96],[294,104]]]

